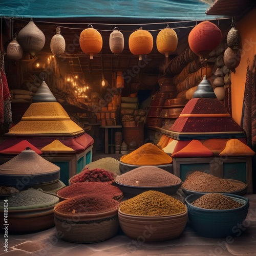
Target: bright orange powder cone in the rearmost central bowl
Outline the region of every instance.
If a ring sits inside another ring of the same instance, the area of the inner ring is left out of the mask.
[[[134,165],[163,165],[173,162],[172,157],[152,143],[140,146],[130,154],[122,156],[120,160],[123,163]]]

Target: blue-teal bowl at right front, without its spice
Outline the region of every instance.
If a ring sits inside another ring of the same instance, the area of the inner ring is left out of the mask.
[[[242,224],[247,216],[249,208],[249,200],[247,198],[232,194],[222,194],[243,204],[243,206],[234,209],[215,210],[194,206],[193,202],[203,195],[205,193],[196,193],[185,198],[190,225],[200,236],[226,238],[227,236],[236,236],[242,232],[238,225]]]

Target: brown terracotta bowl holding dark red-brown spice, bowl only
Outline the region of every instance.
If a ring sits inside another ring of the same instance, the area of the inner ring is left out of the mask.
[[[78,197],[77,197],[78,198]],[[62,239],[73,243],[96,243],[117,233],[119,221],[117,207],[96,214],[63,214],[58,208],[74,198],[58,203],[54,209],[54,222]]]

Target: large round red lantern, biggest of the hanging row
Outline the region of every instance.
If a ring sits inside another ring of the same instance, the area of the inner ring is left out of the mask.
[[[213,23],[199,23],[188,35],[188,45],[190,49],[200,57],[206,57],[221,42],[221,31]]]

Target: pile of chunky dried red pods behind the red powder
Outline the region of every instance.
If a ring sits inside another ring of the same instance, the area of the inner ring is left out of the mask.
[[[90,182],[90,181],[101,181],[108,182],[113,181],[115,179],[115,174],[110,172],[109,170],[94,168],[94,169],[86,169],[84,168],[80,174],[73,176],[70,179],[70,184],[75,182]]]

